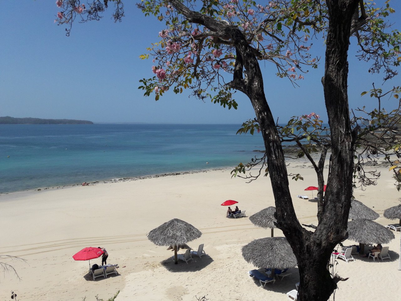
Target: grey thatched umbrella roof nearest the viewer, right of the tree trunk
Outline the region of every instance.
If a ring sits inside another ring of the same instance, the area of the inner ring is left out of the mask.
[[[359,218],[348,222],[348,238],[361,244],[387,244],[394,234],[377,222]]]

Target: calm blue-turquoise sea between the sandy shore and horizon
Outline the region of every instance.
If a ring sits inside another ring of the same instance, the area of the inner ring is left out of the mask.
[[[264,149],[261,134],[236,135],[239,127],[1,124],[0,193],[234,167],[260,155],[253,150]]]

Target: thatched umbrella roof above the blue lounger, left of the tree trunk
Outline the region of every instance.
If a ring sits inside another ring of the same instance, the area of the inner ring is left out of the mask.
[[[292,248],[284,237],[256,239],[242,247],[243,258],[258,268],[291,268],[297,265]]]

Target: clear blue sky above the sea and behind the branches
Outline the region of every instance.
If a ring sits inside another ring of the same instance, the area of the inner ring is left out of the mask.
[[[158,32],[165,26],[144,17],[135,2],[125,1],[123,22],[114,23],[109,9],[99,22],[76,22],[70,37],[65,36],[65,27],[53,23],[58,11],[55,1],[24,0],[18,5],[15,1],[2,2],[0,116],[185,124],[241,124],[255,116],[241,92],[235,97],[238,110],[188,98],[188,94],[166,93],[158,102],[154,97],[145,98],[138,90],[138,81],[153,76],[152,61],[138,57],[146,53],[150,43],[159,41]],[[401,4],[391,2],[395,20],[400,16]],[[327,120],[320,82],[324,72],[323,41],[311,42],[322,59],[317,70],[298,81],[300,87],[277,78],[273,65],[261,62],[267,100],[281,122],[312,111]],[[355,53],[356,47],[351,45],[350,108],[371,106],[373,100],[360,97],[360,93],[371,89],[372,82],[381,87],[383,76],[369,74],[369,64],[355,59]],[[384,89],[400,85],[399,79],[397,76],[389,81]]]

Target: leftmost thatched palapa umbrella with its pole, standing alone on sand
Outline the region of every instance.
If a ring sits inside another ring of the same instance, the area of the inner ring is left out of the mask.
[[[148,239],[157,246],[174,246],[175,263],[178,263],[177,245],[201,237],[202,232],[191,224],[174,218],[150,231]]]

